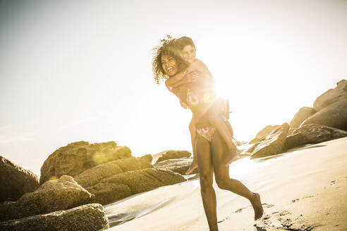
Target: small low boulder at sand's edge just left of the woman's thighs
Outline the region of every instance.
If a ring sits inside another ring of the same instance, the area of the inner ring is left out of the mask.
[[[155,163],[154,168],[162,168],[165,170],[171,170],[174,173],[185,175],[185,172],[187,172],[192,162],[193,162],[193,159],[190,159],[190,158],[175,158],[175,159],[169,159],[165,161],[160,161],[159,163]],[[197,173],[197,168],[193,170],[193,173]]]

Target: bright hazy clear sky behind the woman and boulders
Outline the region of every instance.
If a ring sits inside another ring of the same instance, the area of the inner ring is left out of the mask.
[[[191,113],[155,85],[152,47],[189,36],[238,140],[347,78],[347,1],[0,1],[0,155],[39,175],[71,142],[191,150]]]

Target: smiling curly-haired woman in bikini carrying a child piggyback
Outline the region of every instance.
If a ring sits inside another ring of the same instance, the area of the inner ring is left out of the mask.
[[[160,80],[167,80],[169,77],[188,68],[189,64],[182,58],[175,43],[175,39],[169,37],[168,40],[163,39],[162,46],[156,49],[157,53],[153,59],[153,73],[157,84],[159,84]],[[187,79],[194,78],[188,75]],[[208,81],[202,83],[200,87],[206,87],[209,83]],[[184,104],[188,104],[186,99],[188,85],[190,84],[191,82],[187,81],[185,85],[181,85],[176,92],[173,92]],[[195,87],[199,87],[199,85],[195,85]],[[259,194],[250,192],[240,181],[230,179],[229,177],[229,166],[226,166],[226,163],[229,161],[229,150],[226,149],[226,143],[217,130],[214,132],[209,131],[211,123],[209,122],[208,111],[214,108],[213,104],[217,104],[217,102],[213,100],[201,101],[201,104],[190,106],[190,110],[193,113],[193,118],[190,122],[190,133],[193,154],[197,156],[202,204],[205,209],[209,230],[218,230],[217,201],[214,188],[212,187],[213,173],[219,188],[229,190],[250,200],[255,211],[255,220],[262,217],[263,209]],[[197,134],[199,130],[209,131],[209,139],[199,135],[200,132]]]

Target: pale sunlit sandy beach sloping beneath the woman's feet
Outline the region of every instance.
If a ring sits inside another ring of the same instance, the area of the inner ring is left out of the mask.
[[[262,196],[255,221],[247,199],[217,194],[219,230],[347,230],[347,138],[231,164],[230,176]],[[209,230],[199,180],[136,194],[106,206],[109,230]]]

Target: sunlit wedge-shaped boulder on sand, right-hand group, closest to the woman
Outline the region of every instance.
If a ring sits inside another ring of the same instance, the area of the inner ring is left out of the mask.
[[[267,139],[260,142],[260,144],[255,147],[250,158],[261,158],[281,153],[284,148],[284,142],[286,141],[288,130],[288,123],[284,123],[280,127],[276,128],[276,130],[267,136]]]

